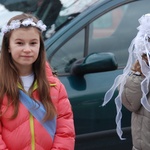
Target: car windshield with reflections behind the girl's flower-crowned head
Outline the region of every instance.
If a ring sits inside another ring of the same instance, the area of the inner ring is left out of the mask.
[[[47,39],[97,1],[104,0],[1,0],[0,27],[16,14],[32,13],[47,25]]]

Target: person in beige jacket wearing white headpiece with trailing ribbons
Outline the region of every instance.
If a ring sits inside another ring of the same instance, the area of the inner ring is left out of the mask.
[[[132,112],[132,150],[150,150],[150,14],[139,19],[139,32],[129,47],[129,59],[123,74],[116,77],[104,97],[103,106],[115,98],[117,133],[122,138],[122,104]]]

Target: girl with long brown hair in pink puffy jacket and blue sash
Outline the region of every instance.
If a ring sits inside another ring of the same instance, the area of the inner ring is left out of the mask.
[[[42,31],[29,14],[9,20],[0,59],[0,150],[73,150],[73,113],[46,62]]]

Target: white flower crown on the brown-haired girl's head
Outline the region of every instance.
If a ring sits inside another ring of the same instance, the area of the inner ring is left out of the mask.
[[[18,28],[20,28],[21,25],[23,25],[23,26],[30,25],[33,27],[37,27],[42,32],[46,30],[46,25],[43,23],[42,20],[39,20],[37,23],[35,23],[32,18],[27,18],[27,19],[23,20],[22,22],[20,20],[12,20],[10,22],[10,25],[6,24],[2,27],[1,33],[5,34],[7,32],[10,32],[11,30],[18,29]]]

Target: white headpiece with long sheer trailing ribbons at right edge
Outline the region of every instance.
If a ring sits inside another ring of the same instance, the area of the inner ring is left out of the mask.
[[[104,97],[104,102],[102,106],[106,105],[112,98],[115,90],[119,87],[118,96],[115,98],[115,104],[117,109],[116,115],[116,124],[117,124],[117,134],[119,135],[120,139],[122,138],[122,130],[121,130],[121,108],[122,108],[122,99],[121,94],[124,89],[124,85],[126,83],[126,79],[131,72],[131,68],[133,63],[136,60],[139,61],[141,66],[141,71],[145,76],[145,79],[141,82],[141,90],[143,92],[141,98],[141,104],[143,107],[150,112],[150,104],[147,101],[147,93],[149,91],[148,85],[150,83],[150,14],[145,14],[139,19],[140,26],[137,28],[139,32],[137,33],[136,37],[131,42],[131,45],[128,49],[129,58],[126,67],[123,70],[123,74],[118,75],[114,81],[112,87],[106,92]],[[142,59],[142,54],[146,54],[148,58],[148,65]]]

